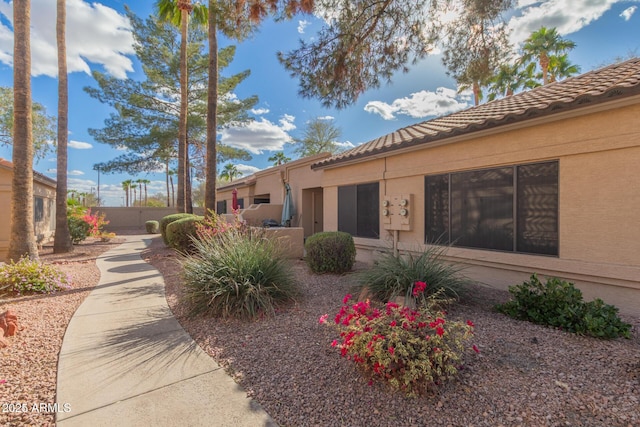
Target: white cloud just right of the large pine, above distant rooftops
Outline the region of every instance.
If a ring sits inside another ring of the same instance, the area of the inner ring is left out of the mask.
[[[280,151],[284,144],[293,141],[287,133],[295,129],[292,123],[295,118],[285,115],[280,119],[280,125],[262,117],[242,127],[223,129],[221,141],[231,147],[243,148],[253,154],[262,154],[264,151]]]

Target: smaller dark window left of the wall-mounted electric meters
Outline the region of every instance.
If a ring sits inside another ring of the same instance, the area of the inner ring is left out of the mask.
[[[377,182],[338,187],[338,230],[356,237],[380,237]]]

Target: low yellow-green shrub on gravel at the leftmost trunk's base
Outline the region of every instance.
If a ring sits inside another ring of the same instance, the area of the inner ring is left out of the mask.
[[[71,278],[50,264],[23,257],[0,267],[0,290],[12,294],[50,293],[71,289]]]

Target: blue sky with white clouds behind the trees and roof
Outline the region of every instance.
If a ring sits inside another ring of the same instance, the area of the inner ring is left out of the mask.
[[[57,111],[57,64],[55,48],[55,1],[32,3],[32,96]],[[90,98],[85,86],[94,86],[90,71],[98,69],[119,78],[140,78],[133,57],[132,37],[124,17],[124,4],[141,17],[153,11],[153,0],[67,0],[67,50],[69,67],[69,188],[96,191],[97,172],[92,166],[121,152],[97,143],[87,129],[102,128],[110,108]],[[576,42],[569,58],[582,72],[613,62],[618,57],[640,56],[640,1],[617,0],[520,0],[509,14],[514,44],[540,26],[556,27],[565,38]],[[0,86],[13,85],[13,33],[11,2],[0,0]],[[316,117],[332,118],[342,130],[340,143],[355,146],[404,126],[471,106],[469,94],[457,94],[456,83],[446,76],[439,54],[434,54],[398,74],[390,85],[366,92],[344,110],[323,108],[318,101],[298,96],[298,83],[276,60],[277,51],[310,40],[321,28],[314,16],[288,22],[265,22],[250,40],[237,45],[227,74],[245,69],[251,76],[237,88],[244,98],[258,95],[255,120],[242,129],[223,132],[226,144],[251,151],[253,160],[241,162],[245,174],[271,166],[268,157],[284,150],[293,155],[292,138],[299,137],[305,123]],[[227,42],[228,44],[231,42]],[[224,44],[224,42],[223,42]],[[0,147],[0,157],[11,159],[10,148]],[[35,170],[55,179],[55,155],[39,161]],[[163,174],[100,176],[100,195],[106,205],[124,204],[121,182],[145,178],[152,181],[150,194],[165,192]]]

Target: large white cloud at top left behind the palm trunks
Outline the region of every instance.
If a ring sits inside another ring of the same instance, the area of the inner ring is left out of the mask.
[[[11,3],[0,3],[0,15],[13,22]],[[31,73],[56,77],[56,2],[31,1]],[[67,0],[68,71],[91,73],[90,64],[101,65],[114,77],[124,79],[133,71],[127,55],[133,55],[131,24],[124,16],[100,3]],[[13,30],[0,24],[0,62],[13,64]]]

